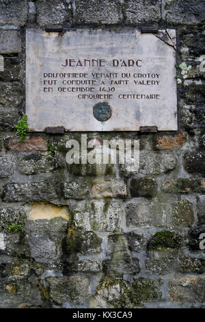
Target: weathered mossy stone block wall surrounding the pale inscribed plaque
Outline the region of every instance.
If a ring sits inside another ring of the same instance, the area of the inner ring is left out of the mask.
[[[0,0],[1,308],[204,307],[204,12],[200,0]],[[18,143],[25,29],[45,25],[176,28],[178,132],[87,133],[139,139],[139,172],[68,166],[80,133]]]

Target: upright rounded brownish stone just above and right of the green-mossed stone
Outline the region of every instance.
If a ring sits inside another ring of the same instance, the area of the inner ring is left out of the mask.
[[[187,199],[181,199],[172,204],[172,214],[174,223],[182,227],[190,227],[195,221],[193,204]]]

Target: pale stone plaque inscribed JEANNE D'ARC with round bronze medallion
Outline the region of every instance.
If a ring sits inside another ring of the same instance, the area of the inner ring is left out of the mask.
[[[177,129],[175,31],[27,29],[29,129]]]

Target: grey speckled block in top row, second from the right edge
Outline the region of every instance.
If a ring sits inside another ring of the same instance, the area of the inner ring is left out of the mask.
[[[124,12],[127,23],[158,22],[161,17],[161,1],[126,0]]]

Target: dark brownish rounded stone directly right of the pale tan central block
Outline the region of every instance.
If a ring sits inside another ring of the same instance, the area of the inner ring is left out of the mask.
[[[154,197],[156,196],[156,181],[149,177],[131,179],[131,197]]]

